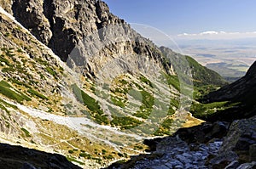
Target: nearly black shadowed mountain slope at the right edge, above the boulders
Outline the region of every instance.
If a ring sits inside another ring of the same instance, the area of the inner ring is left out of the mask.
[[[254,99],[256,94],[255,75],[256,62],[247,71],[246,76],[205,96],[202,99],[204,103],[228,102],[235,105],[230,109],[220,110],[216,114],[209,116],[209,120],[233,121],[256,115],[256,101]]]

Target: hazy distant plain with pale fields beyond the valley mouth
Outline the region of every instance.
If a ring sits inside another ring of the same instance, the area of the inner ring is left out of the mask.
[[[230,82],[244,76],[256,60],[256,39],[177,40],[179,50]],[[170,47],[175,48],[175,47]],[[177,48],[177,47],[176,47]],[[174,49],[175,50],[175,49]]]

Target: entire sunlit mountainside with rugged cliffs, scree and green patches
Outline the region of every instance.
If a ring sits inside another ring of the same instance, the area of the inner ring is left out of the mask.
[[[191,82],[224,84],[141,37],[102,1],[0,3],[9,12],[0,8],[3,142],[106,166],[143,152],[144,138],[182,127],[189,112],[180,100],[191,100]]]

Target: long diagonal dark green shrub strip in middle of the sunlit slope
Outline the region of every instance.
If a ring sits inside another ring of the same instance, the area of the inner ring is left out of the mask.
[[[90,115],[97,123],[109,124],[107,115],[103,113],[103,110],[96,99],[93,99],[87,93],[84,93],[84,91],[75,84],[72,85],[72,88],[75,97],[80,103],[86,105],[86,107],[90,110]]]

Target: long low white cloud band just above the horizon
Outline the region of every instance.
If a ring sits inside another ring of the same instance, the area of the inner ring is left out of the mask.
[[[226,32],[226,31],[203,31],[200,33],[183,33],[177,35],[183,39],[238,39],[256,37],[256,31],[252,32]]]

